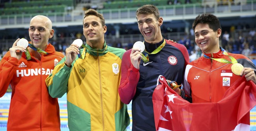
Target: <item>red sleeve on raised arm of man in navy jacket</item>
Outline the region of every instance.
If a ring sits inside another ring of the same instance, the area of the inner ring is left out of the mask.
[[[138,80],[140,79],[139,70],[131,64],[130,54],[131,49],[123,54],[121,63],[121,82],[118,88],[120,99],[125,104],[129,104],[133,99]]]

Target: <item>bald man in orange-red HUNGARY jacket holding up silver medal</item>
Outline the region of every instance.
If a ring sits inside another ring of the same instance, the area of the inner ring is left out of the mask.
[[[59,104],[48,94],[45,79],[64,55],[48,44],[54,35],[49,18],[33,17],[28,31],[27,50],[16,46],[17,39],[0,62],[0,97],[12,87],[7,131],[60,131]]]

